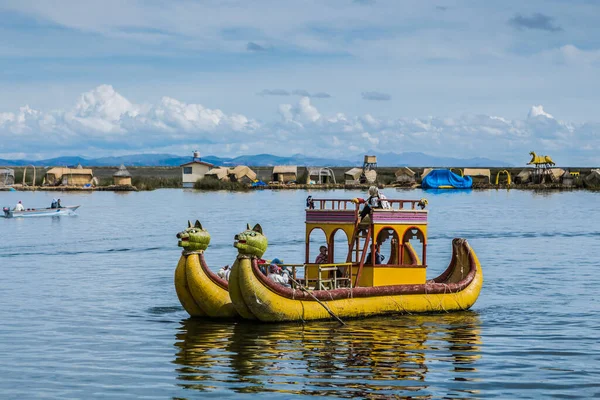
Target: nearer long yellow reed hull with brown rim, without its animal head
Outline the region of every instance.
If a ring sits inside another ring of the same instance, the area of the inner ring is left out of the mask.
[[[309,294],[269,281],[259,271],[256,260],[241,259],[238,269],[237,280],[245,305],[256,318],[267,322],[331,319],[324,305],[340,318],[466,310],[477,300],[483,284],[479,260],[464,239],[453,240],[448,269],[421,285],[359,287]]]

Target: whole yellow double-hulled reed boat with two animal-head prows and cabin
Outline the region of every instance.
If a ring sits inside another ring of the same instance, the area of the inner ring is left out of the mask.
[[[454,239],[450,265],[427,280],[426,200],[386,201],[387,208],[372,208],[364,218],[359,204],[349,199],[314,199],[307,204],[305,262],[279,265],[289,273],[287,284],[272,279],[276,272],[261,259],[268,241],[260,225],[235,236],[238,256],[227,281],[204,261],[208,232],[198,221],[189,223],[177,234],[184,248],[175,271],[179,300],[193,317],[268,322],[470,308],[479,296],[483,274],[467,240]],[[334,236],[340,230],[348,238],[346,262],[334,263]],[[319,264],[309,260],[310,238],[316,231],[325,234],[330,249]]]

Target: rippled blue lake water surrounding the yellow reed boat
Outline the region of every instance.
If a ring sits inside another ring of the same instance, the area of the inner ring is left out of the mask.
[[[0,219],[0,398],[600,396],[600,193],[385,190],[429,200],[428,277],[465,237],[472,310],[302,325],[190,320],[175,234],[199,219],[216,270],[260,223],[302,262],[306,191],[61,193],[78,215]],[[352,198],[352,191],[312,192]],[[1,206],[51,192],[0,192]]]

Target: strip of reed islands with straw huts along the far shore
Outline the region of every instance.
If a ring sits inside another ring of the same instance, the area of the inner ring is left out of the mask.
[[[0,190],[109,190],[161,188],[197,190],[330,190],[399,188],[600,189],[600,169],[559,168],[531,152],[525,168],[378,167],[365,156],[362,167],[215,167],[194,158],[179,167],[0,167]]]

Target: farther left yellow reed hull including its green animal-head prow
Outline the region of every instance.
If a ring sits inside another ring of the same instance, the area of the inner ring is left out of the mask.
[[[175,268],[175,291],[183,308],[192,317],[239,317],[231,297],[229,284],[208,267],[204,251],[210,234],[196,221],[177,234],[178,246],[183,248]]]

